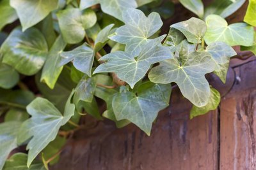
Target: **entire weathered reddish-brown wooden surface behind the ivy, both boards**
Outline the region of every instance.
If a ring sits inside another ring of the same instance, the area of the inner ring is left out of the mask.
[[[243,8],[228,18],[243,20]],[[177,4],[175,20],[191,17]],[[161,111],[150,137],[129,125],[116,129],[108,120],[78,131],[53,170],[240,170],[256,169],[256,58],[232,59],[224,85],[208,75],[221,92],[218,110],[189,120],[191,103],[174,88],[170,106]]]

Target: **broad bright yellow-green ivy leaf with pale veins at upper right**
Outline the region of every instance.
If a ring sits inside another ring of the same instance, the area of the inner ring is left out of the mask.
[[[227,21],[218,15],[209,15],[206,19],[207,32],[204,36],[209,45],[216,41],[223,41],[230,46],[253,44],[253,27],[245,23],[227,24]]]

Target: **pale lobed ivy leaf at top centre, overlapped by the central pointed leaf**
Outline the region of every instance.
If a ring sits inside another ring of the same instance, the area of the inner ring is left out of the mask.
[[[163,25],[159,14],[155,12],[146,17],[142,11],[129,8],[124,11],[123,18],[125,25],[118,27],[115,34],[109,38],[125,44],[125,52],[131,55],[138,55],[142,46],[152,40],[148,38]]]

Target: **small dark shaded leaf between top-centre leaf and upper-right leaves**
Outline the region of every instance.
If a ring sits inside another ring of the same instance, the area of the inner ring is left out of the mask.
[[[179,45],[183,40],[184,35],[182,34],[182,32],[171,27],[163,45],[168,46],[171,52],[175,52],[176,46]]]

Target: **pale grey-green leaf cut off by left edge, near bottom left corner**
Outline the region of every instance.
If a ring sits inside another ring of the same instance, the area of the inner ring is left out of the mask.
[[[20,122],[4,122],[0,124],[0,169],[9,153],[17,148],[17,135],[19,133]]]

